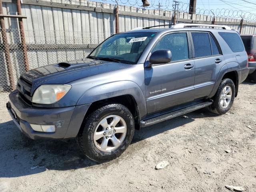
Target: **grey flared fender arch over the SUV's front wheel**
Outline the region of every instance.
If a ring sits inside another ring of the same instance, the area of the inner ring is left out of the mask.
[[[146,115],[146,100],[142,90],[136,83],[126,80],[100,84],[86,90],[78,100],[77,105],[93,103],[122,95],[133,96],[138,104],[140,116],[143,117]]]

